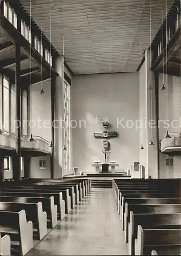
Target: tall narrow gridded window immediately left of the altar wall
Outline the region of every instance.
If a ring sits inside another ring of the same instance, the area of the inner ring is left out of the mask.
[[[71,168],[71,116],[70,116],[70,84],[64,81],[64,169]]]

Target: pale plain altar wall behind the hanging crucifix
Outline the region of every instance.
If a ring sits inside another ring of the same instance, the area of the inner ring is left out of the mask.
[[[108,117],[110,129],[118,132],[117,138],[110,138],[109,160],[119,163],[119,170],[126,171],[135,161],[139,161],[139,132],[117,127],[117,121],[126,127],[126,121],[139,118],[138,73],[98,74],[73,76],[72,118],[77,122],[85,120],[86,127],[73,130],[73,165],[84,172],[95,172],[92,167],[99,158],[104,162],[103,139],[95,139],[95,132],[104,131],[103,118]],[[95,123],[94,118],[101,122]],[[118,120],[117,120],[118,118]],[[72,123],[74,125],[75,122]],[[129,123],[128,125],[131,125]],[[117,170],[118,171],[118,170]]]

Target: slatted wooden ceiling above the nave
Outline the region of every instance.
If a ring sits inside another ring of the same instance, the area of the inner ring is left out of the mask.
[[[30,12],[30,0],[20,0]],[[151,39],[173,0],[151,0]],[[51,33],[50,33],[51,10]],[[150,0],[31,0],[32,17],[74,74],[132,72],[150,45]]]

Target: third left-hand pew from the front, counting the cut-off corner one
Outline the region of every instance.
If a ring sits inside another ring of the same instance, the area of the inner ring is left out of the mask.
[[[36,239],[41,240],[47,234],[47,212],[42,210],[41,202],[37,204],[0,202],[0,211],[26,211],[27,221],[32,221],[37,229]]]

